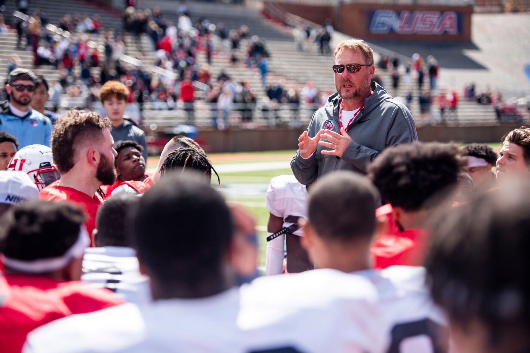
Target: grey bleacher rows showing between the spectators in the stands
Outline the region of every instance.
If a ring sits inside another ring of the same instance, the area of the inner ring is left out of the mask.
[[[68,12],[72,14],[100,14],[103,28],[109,29],[111,35],[116,31],[121,32],[122,39],[126,44],[126,54],[127,56],[133,58],[131,60],[140,60],[142,63],[141,65],[145,68],[148,68],[153,64],[154,50],[151,39],[146,34],[143,34],[140,36],[140,46],[138,46],[138,42],[135,40],[134,36],[122,30],[122,19],[121,13],[119,11],[103,7],[103,5],[99,4],[96,5],[73,0],[68,0],[64,4],[68,8]],[[10,17],[8,14],[11,14],[16,10],[15,1],[6,1],[5,7],[6,9],[4,13],[7,17]],[[58,24],[61,17],[63,17],[65,14],[64,7],[57,8],[51,3],[43,0],[32,1],[30,4],[29,13],[31,14],[35,8],[40,8],[40,10],[45,14],[47,21],[51,24]],[[219,15],[213,13],[211,10],[205,10],[201,13],[198,11],[198,9],[200,9],[200,6],[193,7],[193,12],[190,13],[190,18],[193,23],[199,19],[207,19],[210,23],[214,24],[222,22],[227,29],[232,29],[234,26],[238,27],[244,23],[250,29],[250,36],[258,35],[264,41],[264,43],[266,43],[267,49],[270,53],[269,74],[267,77],[268,85],[278,83],[280,80],[282,80],[285,86],[284,88],[294,88],[299,94],[306,82],[312,81],[315,87],[319,89],[320,94],[323,94],[326,89],[331,89],[334,91],[332,79],[333,76],[330,68],[333,61],[332,57],[321,56],[319,54],[318,48],[311,42],[306,43],[305,51],[298,51],[293,40],[292,28],[290,26],[285,26],[283,24],[279,24],[278,22],[267,20],[264,17],[258,15]],[[163,12],[163,15],[167,20],[173,21],[173,23],[178,21],[178,15],[176,15],[176,13]],[[11,17],[12,19],[10,22],[14,23],[15,17]],[[313,26],[313,28],[318,26],[307,21],[304,22],[304,25]],[[95,46],[95,48],[99,50],[100,61],[104,60],[105,54],[102,47],[103,34],[101,32],[97,34],[74,34],[74,36],[77,38],[86,38],[92,41],[92,44]],[[337,43],[343,38],[346,38],[346,36],[337,32],[333,33],[332,44]],[[266,97],[266,92],[261,85],[259,70],[257,68],[247,69],[245,66],[245,56],[247,50],[245,42],[243,42],[243,45],[241,45],[238,49],[237,56],[239,61],[235,65],[232,65],[228,51],[223,49],[225,44],[219,39],[219,37],[217,37],[217,35],[215,35],[215,33],[212,35],[212,41],[215,44],[215,52],[212,56],[210,65],[210,74],[213,82],[215,83],[217,76],[222,71],[224,71],[228,76],[238,83],[248,82],[254,89],[255,96],[257,98],[257,104],[253,110],[253,122],[255,124],[268,125],[278,122],[292,122],[293,113],[291,107],[288,105],[279,105],[278,108],[273,108],[273,110],[277,111],[276,114],[278,115],[278,120],[272,118],[269,119],[269,116],[267,115],[269,113],[263,112],[267,110],[267,108],[263,109],[263,106],[268,105],[267,99],[264,99],[264,97]],[[384,49],[382,48],[382,50]],[[32,53],[31,51],[24,50],[23,48],[16,48],[16,33],[14,33],[14,31],[5,34],[5,40],[0,43],[0,65],[4,64],[6,59],[12,53],[19,55],[22,60],[22,67],[32,68]],[[383,53],[388,55],[388,52],[386,51],[383,51]],[[381,53],[378,53],[376,49],[376,62],[378,61],[379,54]],[[392,55],[392,52],[390,52],[390,54]],[[395,55],[398,56],[397,54]],[[201,50],[198,51],[196,59],[198,66],[207,62],[205,52]],[[51,82],[59,78],[58,70],[50,66],[40,66],[36,72],[45,76]],[[407,88],[403,83],[403,65],[400,65],[399,72],[401,74],[401,84],[398,90],[394,92],[391,87],[391,70],[376,69],[376,75],[379,75],[382,78],[387,90],[393,96],[404,97]],[[91,68],[91,73],[93,76],[99,76],[100,68]],[[76,71],[74,71],[73,74],[74,76],[79,76],[79,73]],[[410,110],[413,115],[417,117],[419,116],[418,97],[420,95],[420,90],[415,84],[415,75],[416,73],[413,71],[412,85],[410,86],[413,100]],[[0,68],[0,76],[6,76],[5,65],[2,65],[2,68]],[[424,87],[428,86],[428,76],[425,76]],[[199,126],[209,126],[211,124],[212,106],[211,104],[206,103],[205,91],[208,88],[204,86],[200,86],[199,88],[201,89],[196,89],[197,99],[194,106],[196,118],[195,124]],[[451,87],[440,88],[447,92],[447,90]],[[438,114],[436,97],[432,97],[432,101],[433,104],[431,111],[434,113],[434,115],[436,115]],[[72,97],[63,94],[60,99],[59,111],[65,111],[70,107],[84,108],[85,106],[86,103],[84,97]],[[301,120],[302,124],[307,123],[311,119],[312,112],[317,106],[319,106],[319,104],[306,104],[302,99],[302,102],[299,106],[299,119]],[[236,109],[231,115],[232,124],[234,125],[238,124],[241,119],[241,114],[237,112],[237,104],[235,105],[235,108]],[[177,102],[175,110],[155,110],[152,104],[144,103],[144,106],[142,107],[142,115],[145,126],[156,124],[157,128],[159,126],[174,126],[185,122],[186,119],[186,114],[183,111],[181,102]],[[497,117],[493,106],[479,105],[474,101],[460,99],[458,104],[458,124],[492,124],[496,122]]]

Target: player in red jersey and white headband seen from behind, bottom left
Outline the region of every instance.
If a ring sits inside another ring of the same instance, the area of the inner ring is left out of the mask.
[[[12,173],[12,172],[5,172]],[[2,218],[0,347],[20,353],[27,334],[53,320],[120,304],[107,289],[80,282],[89,236],[77,206],[28,201]]]

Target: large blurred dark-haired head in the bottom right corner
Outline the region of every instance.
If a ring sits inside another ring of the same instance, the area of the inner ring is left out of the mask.
[[[426,268],[455,351],[529,352],[530,186],[500,185],[433,229]]]

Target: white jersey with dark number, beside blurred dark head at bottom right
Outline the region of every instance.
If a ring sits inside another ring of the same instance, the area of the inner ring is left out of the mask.
[[[447,320],[432,302],[425,285],[425,268],[390,266],[384,270],[354,272],[369,279],[377,288],[378,306],[385,325],[387,353],[438,353],[447,347]]]

